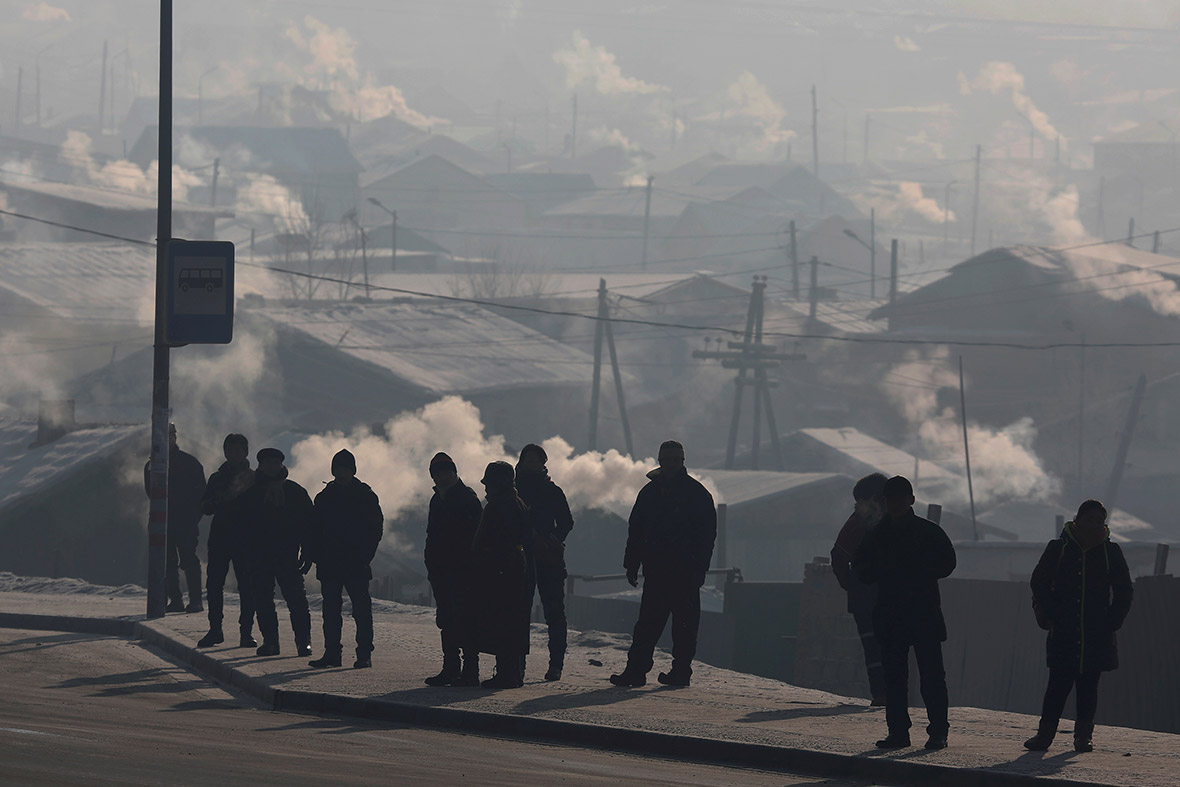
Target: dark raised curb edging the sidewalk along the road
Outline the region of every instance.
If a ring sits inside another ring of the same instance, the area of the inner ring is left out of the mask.
[[[907,787],[1104,787],[1101,782],[1032,776],[982,768],[952,768],[886,758],[834,754],[765,743],[745,743],[605,727],[586,722],[437,708],[319,691],[275,689],[264,678],[234,669],[143,621],[0,612],[0,628],[70,631],[139,640],[158,648],[194,671],[223,686],[238,689],[280,711],[350,716],[497,737],[543,740],[584,748],[720,766],[740,766],[828,778],[866,779],[872,782],[889,782]]]

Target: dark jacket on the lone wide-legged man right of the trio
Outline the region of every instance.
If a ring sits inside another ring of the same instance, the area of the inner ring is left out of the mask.
[[[623,568],[648,579],[704,584],[717,538],[717,510],[704,486],[681,468],[670,481],[658,468],[640,490],[627,530]]]

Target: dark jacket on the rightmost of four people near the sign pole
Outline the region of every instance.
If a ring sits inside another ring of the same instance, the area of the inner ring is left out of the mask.
[[[329,481],[315,496],[310,559],[323,581],[372,579],[369,563],[385,532],[381,503],[368,484]]]

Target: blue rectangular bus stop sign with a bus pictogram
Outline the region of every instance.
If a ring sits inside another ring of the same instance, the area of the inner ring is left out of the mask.
[[[228,345],[234,339],[234,244],[168,242],[168,343]]]

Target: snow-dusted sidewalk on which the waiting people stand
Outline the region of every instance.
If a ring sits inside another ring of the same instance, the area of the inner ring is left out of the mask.
[[[2,586],[2,585],[0,585]],[[0,591],[0,625],[70,625],[60,618],[99,619],[116,634],[139,636],[198,671],[208,673],[274,704],[276,709],[361,715],[371,719],[459,728],[513,737],[543,737],[664,756],[726,761],[750,767],[786,768],[828,776],[851,776],[905,785],[1101,783],[1165,787],[1180,783],[1180,736],[1099,727],[1093,754],[1075,754],[1069,730],[1048,753],[1028,753],[1021,743],[1036,719],[975,708],[951,709],[950,748],[920,748],[924,714],[912,713],[918,748],[879,753],[873,741],[885,733],[884,713],[865,701],[801,689],[776,681],[699,664],[693,686],[669,689],[655,683],[667,669],[658,654],[653,682],[620,689],[607,677],[622,668],[628,637],[570,632],[570,652],[560,682],[540,680],[546,662],[543,627],[533,629],[525,687],[516,690],[441,688],[422,684],[440,665],[433,610],[374,602],[376,650],[373,669],[352,670],[352,636],[346,621],[345,668],[313,670],[294,656],[290,629],[280,609],[283,652],[258,658],[227,645],[196,650],[206,630],[204,615],[169,615],[143,623],[144,598],[133,589],[98,595]],[[112,589],[113,590],[113,589]],[[315,602],[319,601],[316,597]],[[228,598],[227,602],[230,602]],[[30,616],[55,616],[35,621]],[[227,603],[227,619],[236,608]],[[122,622],[116,622],[122,621]],[[315,656],[322,652],[320,616],[313,612]],[[91,629],[96,630],[96,629]],[[491,675],[485,657],[483,676]],[[953,702],[953,697],[951,697]],[[1101,719],[1101,709],[1100,709]]]

